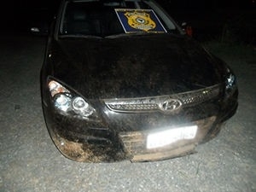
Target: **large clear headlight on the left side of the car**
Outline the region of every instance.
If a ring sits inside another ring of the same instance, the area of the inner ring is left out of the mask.
[[[82,96],[78,96],[55,80],[49,81],[48,88],[53,105],[60,113],[73,115],[79,119],[96,118],[96,110]]]

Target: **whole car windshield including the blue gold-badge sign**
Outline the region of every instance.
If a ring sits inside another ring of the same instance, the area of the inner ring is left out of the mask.
[[[150,0],[68,1],[59,34],[111,37],[125,34],[178,32],[172,19]]]

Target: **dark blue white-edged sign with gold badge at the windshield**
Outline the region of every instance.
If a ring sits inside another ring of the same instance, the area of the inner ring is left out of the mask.
[[[152,9],[115,9],[126,33],[166,32]]]

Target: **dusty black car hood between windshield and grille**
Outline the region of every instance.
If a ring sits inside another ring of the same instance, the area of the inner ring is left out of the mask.
[[[50,75],[86,98],[171,95],[221,81],[205,49],[170,34],[60,38],[51,49]]]

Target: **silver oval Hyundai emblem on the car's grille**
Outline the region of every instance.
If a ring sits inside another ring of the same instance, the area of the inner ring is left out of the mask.
[[[182,107],[182,102],[178,99],[166,99],[164,102],[159,104],[160,110],[164,113],[172,113]]]

